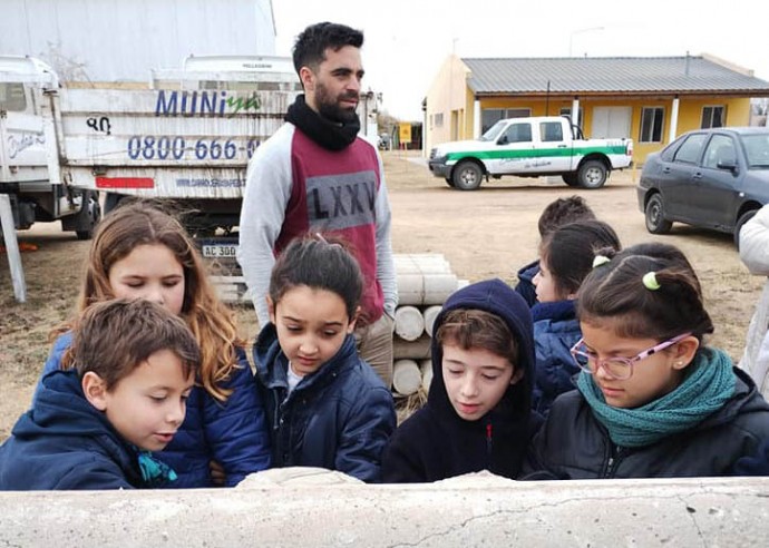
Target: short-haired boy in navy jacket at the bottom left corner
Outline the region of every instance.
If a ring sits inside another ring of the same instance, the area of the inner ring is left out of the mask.
[[[0,447],[0,490],[158,487],[174,472],[152,458],[182,424],[201,355],[185,323],[148,301],[88,307],[75,327],[75,369],[52,371]]]

